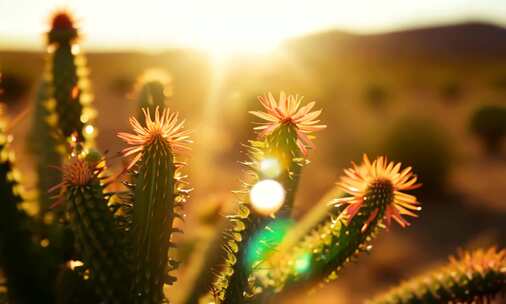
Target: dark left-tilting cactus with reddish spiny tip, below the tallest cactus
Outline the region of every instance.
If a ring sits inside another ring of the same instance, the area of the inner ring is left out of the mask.
[[[63,166],[61,188],[76,247],[106,303],[129,303],[131,271],[125,231],[116,224],[104,192],[103,161],[95,153],[73,155]]]

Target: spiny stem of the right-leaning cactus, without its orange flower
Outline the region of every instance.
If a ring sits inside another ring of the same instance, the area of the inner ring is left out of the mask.
[[[384,206],[379,210],[365,207],[347,222],[339,217],[338,210],[328,210],[323,220],[310,229],[295,226],[293,232],[286,236],[287,243],[283,242],[279,252],[259,267],[269,269],[269,272],[260,271],[255,275],[263,285],[277,292],[294,288],[305,280],[335,279],[347,262],[370,248],[368,245],[380,229],[380,218],[384,211]],[[364,230],[365,223],[373,213],[377,217]]]

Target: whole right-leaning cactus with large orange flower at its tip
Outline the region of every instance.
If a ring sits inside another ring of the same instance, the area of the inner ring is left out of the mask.
[[[346,196],[330,202],[341,210],[338,216],[329,215],[298,238],[300,242],[281,247],[263,265],[270,265],[272,271],[260,274],[260,281],[279,291],[301,279],[335,279],[346,262],[369,248],[369,241],[384,222],[390,224],[393,219],[402,227],[408,226],[402,215],[416,216],[414,212],[421,208],[414,196],[401,191],[419,184],[410,167],[400,169],[400,163],[383,157],[371,163],[364,155],[360,166],[353,164],[352,169],[345,170],[338,187]],[[287,239],[293,236],[288,235]]]

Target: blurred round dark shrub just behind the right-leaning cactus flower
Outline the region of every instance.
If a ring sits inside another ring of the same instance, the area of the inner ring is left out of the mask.
[[[444,129],[434,121],[405,117],[394,123],[385,138],[384,152],[392,160],[413,167],[420,191],[433,194],[444,189],[453,153]]]

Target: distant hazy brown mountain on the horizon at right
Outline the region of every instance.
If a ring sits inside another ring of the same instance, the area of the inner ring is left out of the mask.
[[[506,58],[506,28],[463,23],[369,35],[328,31],[290,40],[286,46],[316,56]]]

